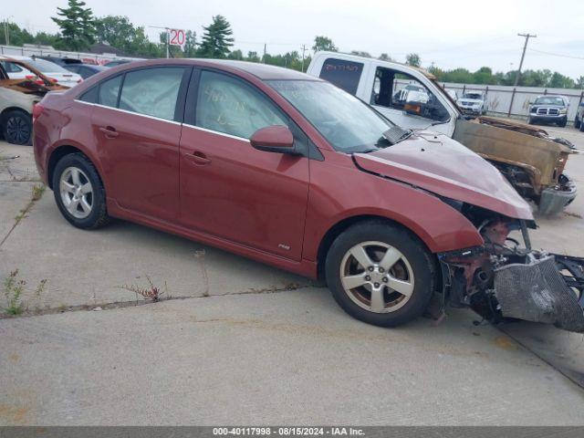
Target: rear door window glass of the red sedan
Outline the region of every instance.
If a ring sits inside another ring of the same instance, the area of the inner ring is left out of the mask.
[[[126,73],[120,110],[174,120],[183,67],[145,68]]]

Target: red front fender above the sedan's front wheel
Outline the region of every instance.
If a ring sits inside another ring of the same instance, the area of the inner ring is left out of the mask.
[[[433,253],[485,243],[474,224],[432,193],[355,167],[322,163],[310,162],[305,259],[316,260],[328,230],[357,216],[377,216],[401,224]]]

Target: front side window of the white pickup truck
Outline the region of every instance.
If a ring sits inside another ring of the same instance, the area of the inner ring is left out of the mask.
[[[391,68],[377,68],[370,102],[424,119],[446,121],[450,117],[433,92],[418,79]]]

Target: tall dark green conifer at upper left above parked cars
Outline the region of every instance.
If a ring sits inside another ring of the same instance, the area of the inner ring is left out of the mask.
[[[85,2],[68,0],[68,7],[57,7],[57,18],[52,16],[61,34],[57,39],[57,47],[68,50],[83,50],[94,42],[95,18],[91,8],[84,7]]]

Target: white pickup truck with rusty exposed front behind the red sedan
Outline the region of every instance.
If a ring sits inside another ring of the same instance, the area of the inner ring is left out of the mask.
[[[368,102],[374,109],[412,130],[442,132],[492,162],[541,214],[557,214],[576,197],[576,185],[564,172],[571,143],[545,130],[511,120],[464,116],[458,105],[421,68],[338,52],[318,52],[308,74],[326,79]],[[424,89],[415,94],[406,87]],[[408,96],[408,99],[403,99]]]

